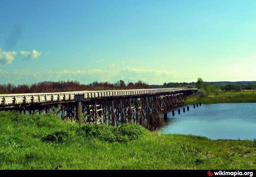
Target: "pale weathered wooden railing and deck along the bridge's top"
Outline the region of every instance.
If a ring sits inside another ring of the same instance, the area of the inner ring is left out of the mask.
[[[105,90],[105,91],[71,91],[57,93],[30,93],[30,94],[1,94],[0,107],[9,105],[74,101],[75,94],[84,94],[86,100],[108,97],[129,97],[158,93],[173,93],[178,91],[196,90],[197,88],[157,88],[138,90]]]

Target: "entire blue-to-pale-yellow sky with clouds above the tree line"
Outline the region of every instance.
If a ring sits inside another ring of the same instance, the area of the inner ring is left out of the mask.
[[[0,0],[0,84],[256,80],[255,0]]]

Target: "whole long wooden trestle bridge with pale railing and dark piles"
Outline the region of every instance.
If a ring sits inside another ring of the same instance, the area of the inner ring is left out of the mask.
[[[142,123],[162,110],[184,104],[187,95],[196,88],[161,88],[139,90],[75,91],[62,93],[2,94],[0,110],[42,114],[52,112],[62,119],[78,121],[75,94],[84,94],[82,121],[119,125],[125,122]]]

